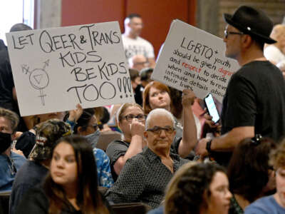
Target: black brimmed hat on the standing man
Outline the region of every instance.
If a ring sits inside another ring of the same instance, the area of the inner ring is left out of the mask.
[[[244,34],[254,36],[266,44],[274,44],[276,41],[269,35],[273,29],[273,23],[263,11],[250,6],[240,6],[234,15],[223,14],[224,21],[234,26]]]

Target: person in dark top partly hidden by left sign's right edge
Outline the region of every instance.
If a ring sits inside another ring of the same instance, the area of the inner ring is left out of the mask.
[[[133,93],[135,96],[135,103],[138,103],[140,106],[142,106],[142,92],[143,88],[140,82],[140,74],[138,70],[130,68],[130,83],[132,84]]]

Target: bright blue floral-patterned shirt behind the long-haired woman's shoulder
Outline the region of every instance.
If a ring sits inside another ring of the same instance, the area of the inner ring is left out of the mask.
[[[113,178],[110,169],[110,159],[100,148],[93,148],[97,165],[98,185],[110,188],[113,186]]]

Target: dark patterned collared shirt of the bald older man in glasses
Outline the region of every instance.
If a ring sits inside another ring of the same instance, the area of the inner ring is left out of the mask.
[[[174,172],[187,160],[170,153]],[[171,171],[150,148],[128,159],[113,188],[106,193],[114,203],[142,202],[152,208],[160,205]]]

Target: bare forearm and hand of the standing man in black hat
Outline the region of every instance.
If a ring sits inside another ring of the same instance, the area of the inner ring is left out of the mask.
[[[211,143],[211,151],[233,151],[234,148],[239,144],[244,138],[254,137],[254,126],[242,126],[233,128],[228,133],[220,136],[219,138],[213,138]],[[207,142],[210,139],[203,138],[196,147],[196,153],[199,156],[207,156],[208,152],[206,149]]]

